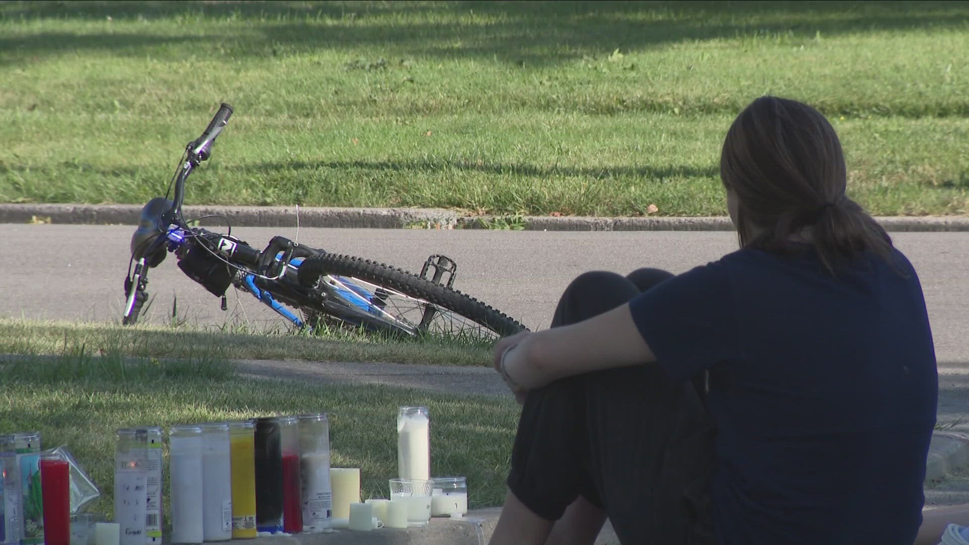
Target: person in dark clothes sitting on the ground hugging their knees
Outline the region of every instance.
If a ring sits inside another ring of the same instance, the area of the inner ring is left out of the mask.
[[[523,406],[492,544],[607,517],[624,544],[915,542],[938,395],[916,271],[806,104],[753,101],[720,176],[739,250],[584,273],[550,329],[496,344]]]

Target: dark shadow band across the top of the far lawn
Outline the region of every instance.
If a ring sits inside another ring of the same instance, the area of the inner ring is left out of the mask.
[[[484,16],[474,18],[472,16]],[[467,16],[457,20],[458,16]],[[218,45],[232,56],[271,57],[319,49],[380,47],[394,55],[478,57],[555,63],[615,48],[745,37],[797,45],[832,36],[921,27],[962,27],[969,5],[957,2],[17,2],[0,6],[0,22],[40,18],[177,20],[186,24],[246,21],[247,32],[160,36],[150,32],[41,32],[0,38],[0,63],[65,49],[142,49],[184,44],[185,52]],[[191,28],[191,26],[189,26]],[[170,53],[177,54],[177,53]],[[208,51],[208,54],[213,54]],[[218,54],[218,53],[214,53]],[[2,60],[6,59],[6,60]]]

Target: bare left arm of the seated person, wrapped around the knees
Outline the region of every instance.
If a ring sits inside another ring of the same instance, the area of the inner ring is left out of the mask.
[[[566,376],[656,361],[629,305],[578,324],[504,339],[495,347],[497,368],[502,357],[508,376],[527,390]]]

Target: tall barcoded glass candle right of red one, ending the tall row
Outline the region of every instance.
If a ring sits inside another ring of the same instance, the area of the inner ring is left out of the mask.
[[[299,417],[299,473],[303,529],[329,529],[333,503],[329,489],[329,421],[326,413]]]

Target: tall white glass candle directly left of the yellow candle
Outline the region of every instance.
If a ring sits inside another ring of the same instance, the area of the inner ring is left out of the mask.
[[[233,537],[233,490],[229,425],[202,426],[203,538],[226,541]]]

